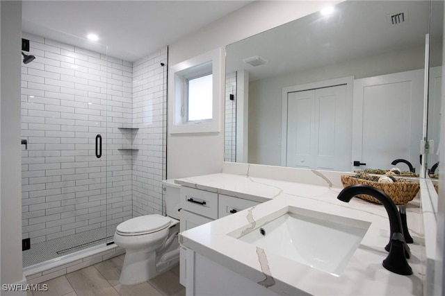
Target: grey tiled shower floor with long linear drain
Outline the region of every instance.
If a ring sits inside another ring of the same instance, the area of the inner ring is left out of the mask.
[[[118,224],[79,232],[69,236],[54,238],[42,243],[31,244],[31,249],[22,252],[23,267],[55,259],[66,254],[94,247],[108,241],[113,241],[113,235],[104,238],[105,234],[114,234]]]

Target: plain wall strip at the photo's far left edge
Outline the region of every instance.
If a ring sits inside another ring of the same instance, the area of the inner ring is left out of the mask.
[[[1,1],[1,284],[22,281],[20,48],[22,2]],[[1,293],[3,295],[3,291]],[[5,293],[6,294],[6,293]]]

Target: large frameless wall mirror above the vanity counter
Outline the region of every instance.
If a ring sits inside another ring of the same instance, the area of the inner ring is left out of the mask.
[[[225,161],[351,171],[405,159],[420,172],[426,40],[442,32],[430,5],[344,1],[227,46]],[[430,73],[441,58],[430,55]]]

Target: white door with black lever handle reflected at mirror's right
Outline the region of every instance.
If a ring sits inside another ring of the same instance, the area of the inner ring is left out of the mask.
[[[355,80],[353,105],[353,161],[390,168],[401,158],[419,171],[423,70]]]

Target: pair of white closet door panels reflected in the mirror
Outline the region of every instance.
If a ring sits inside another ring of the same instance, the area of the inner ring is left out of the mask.
[[[346,85],[289,92],[286,166],[346,170]]]

